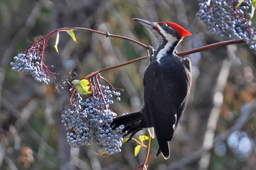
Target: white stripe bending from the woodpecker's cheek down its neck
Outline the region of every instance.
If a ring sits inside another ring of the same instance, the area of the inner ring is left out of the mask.
[[[174,42],[176,42],[178,39],[175,36],[172,36],[171,34],[166,33],[165,30],[162,29],[162,27],[160,27],[159,25],[157,27],[159,28],[160,32],[165,36],[167,40],[167,43],[164,46],[164,48],[161,49],[156,55],[156,61],[160,63],[160,59],[162,58],[162,56],[164,56],[167,53],[167,51],[170,50]]]

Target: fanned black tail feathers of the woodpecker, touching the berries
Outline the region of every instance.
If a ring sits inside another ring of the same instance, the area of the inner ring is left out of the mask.
[[[130,141],[138,131],[147,127],[143,113],[144,111],[142,109],[140,111],[128,113],[114,118],[112,122],[113,129],[116,129],[116,127],[120,125],[124,125],[124,129],[122,131],[123,133],[127,131],[127,134],[124,136],[131,134],[128,140]]]

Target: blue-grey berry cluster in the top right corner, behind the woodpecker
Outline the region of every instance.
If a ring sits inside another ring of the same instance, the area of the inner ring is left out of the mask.
[[[249,19],[252,1],[242,0],[236,7],[237,0],[201,0],[197,16],[208,27],[213,35],[223,37],[245,38],[250,49],[256,50],[256,27]]]

